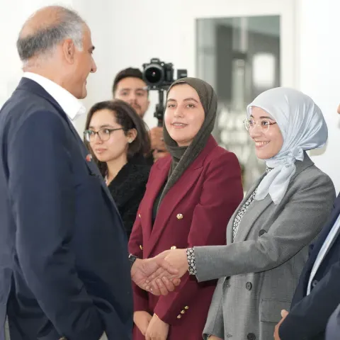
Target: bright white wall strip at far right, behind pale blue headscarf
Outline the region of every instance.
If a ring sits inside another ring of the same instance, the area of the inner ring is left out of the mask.
[[[299,86],[324,113],[329,141],[323,154],[312,157],[340,190],[340,1],[300,2]]]

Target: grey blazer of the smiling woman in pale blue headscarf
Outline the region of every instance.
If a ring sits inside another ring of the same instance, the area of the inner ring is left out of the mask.
[[[335,198],[329,176],[305,154],[283,200],[254,200],[242,217],[236,238],[227,226],[226,246],[195,247],[198,281],[219,278],[203,339],[273,340],[280,311],[288,310],[308,256],[308,246],[326,222]],[[264,175],[263,175],[264,176]]]

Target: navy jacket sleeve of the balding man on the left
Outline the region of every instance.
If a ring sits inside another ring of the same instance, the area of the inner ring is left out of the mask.
[[[61,336],[98,340],[103,324],[70,249],[77,199],[67,127],[53,112],[31,114],[8,143],[8,189],[25,280]]]

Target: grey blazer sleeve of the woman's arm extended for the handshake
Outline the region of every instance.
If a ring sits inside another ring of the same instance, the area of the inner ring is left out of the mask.
[[[335,198],[329,176],[319,169],[310,173],[302,171],[293,181],[280,203],[282,211],[276,220],[259,228],[268,230],[261,237],[254,236],[227,246],[195,247],[198,281],[268,271],[310,244],[326,222]],[[268,204],[273,205],[269,196],[265,200],[270,200]],[[263,202],[261,204],[266,205],[265,200],[260,201]],[[261,215],[261,211],[253,211],[251,215],[250,210],[243,217],[249,218],[249,225],[254,223],[256,214]],[[229,227],[232,227],[231,223]],[[253,227],[249,226],[249,230]]]

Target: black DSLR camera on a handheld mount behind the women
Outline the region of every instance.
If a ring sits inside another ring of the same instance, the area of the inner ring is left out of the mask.
[[[188,77],[186,69],[177,69],[177,79]],[[158,58],[152,58],[149,63],[143,64],[143,80],[147,89],[157,90],[159,103],[156,105],[154,117],[158,120],[158,126],[163,125],[164,115],[164,91],[175,81],[174,64],[161,62]]]

